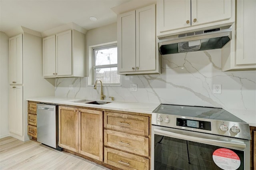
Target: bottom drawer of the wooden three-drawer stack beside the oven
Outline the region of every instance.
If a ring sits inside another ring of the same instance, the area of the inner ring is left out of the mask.
[[[149,169],[149,160],[147,158],[106,147],[104,148],[104,163],[123,170]]]

